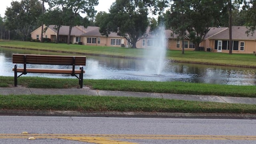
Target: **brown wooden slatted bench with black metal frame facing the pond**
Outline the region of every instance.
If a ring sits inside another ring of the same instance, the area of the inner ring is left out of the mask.
[[[27,73],[50,73],[50,74],[71,74],[79,79],[80,88],[83,88],[83,74],[85,73],[83,66],[86,64],[86,56],[52,56],[52,55],[34,55],[34,54],[13,54],[12,63],[15,64],[14,86],[17,86],[18,77]],[[22,68],[18,68],[17,64],[23,64]],[[26,64],[46,64],[46,65],[64,65],[70,66],[70,69],[49,69],[49,68],[27,68]],[[75,69],[80,66],[80,69]],[[18,72],[21,74],[18,76]],[[79,74],[79,77],[76,75]]]

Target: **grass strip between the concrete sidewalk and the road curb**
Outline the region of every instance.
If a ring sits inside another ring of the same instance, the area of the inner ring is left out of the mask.
[[[190,102],[159,98],[114,96],[1,96],[3,110],[76,110],[118,112],[184,112],[256,114],[256,105],[217,102]]]

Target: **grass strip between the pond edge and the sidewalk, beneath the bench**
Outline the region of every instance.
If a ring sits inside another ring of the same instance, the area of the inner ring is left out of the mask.
[[[13,77],[0,76],[0,86],[14,85]],[[71,78],[20,77],[18,85],[29,88],[72,88],[78,80]],[[118,90],[130,92],[156,92],[173,94],[198,94],[256,98],[255,86],[232,86],[189,82],[149,82],[135,80],[84,80],[84,85],[95,90]]]

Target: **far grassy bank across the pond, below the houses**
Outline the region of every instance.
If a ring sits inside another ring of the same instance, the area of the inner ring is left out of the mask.
[[[0,42],[0,46],[10,48],[29,48],[34,50],[50,50],[56,52],[70,52],[80,54],[96,54],[105,56],[142,58],[144,49],[106,47],[106,46],[83,46],[78,44],[54,44],[40,42]],[[247,66],[256,68],[256,56],[254,54],[226,54],[216,52],[167,50],[166,58],[178,62],[194,62],[203,64]]]

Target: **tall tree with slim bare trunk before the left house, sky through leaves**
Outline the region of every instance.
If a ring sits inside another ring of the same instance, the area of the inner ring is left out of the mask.
[[[87,16],[94,17],[96,10],[94,6],[98,5],[98,0],[52,0],[53,6],[62,7],[62,11],[65,13],[66,24],[69,26],[68,34],[68,44],[70,44],[70,34],[72,27],[81,24],[81,22],[86,22],[88,24],[88,19],[81,21],[80,14],[87,14]]]

